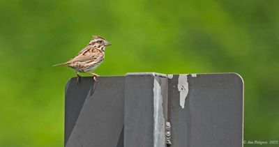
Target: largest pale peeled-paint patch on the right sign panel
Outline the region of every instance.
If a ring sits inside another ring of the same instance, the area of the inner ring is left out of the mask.
[[[182,107],[182,109],[185,106],[185,99],[188,95],[188,79],[187,79],[188,74],[181,74],[179,75],[179,83],[177,84],[177,88],[179,89],[180,92],[180,98],[179,98],[179,104]]]

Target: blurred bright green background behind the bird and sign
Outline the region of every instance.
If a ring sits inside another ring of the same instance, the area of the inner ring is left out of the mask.
[[[98,75],[239,73],[244,139],[279,140],[278,6],[276,0],[0,0],[0,146],[63,146],[64,86],[75,72],[52,65],[75,56],[92,35],[112,42]]]

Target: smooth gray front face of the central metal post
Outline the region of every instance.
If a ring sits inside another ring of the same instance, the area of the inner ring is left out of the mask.
[[[153,146],[152,76],[126,76],[124,145]]]

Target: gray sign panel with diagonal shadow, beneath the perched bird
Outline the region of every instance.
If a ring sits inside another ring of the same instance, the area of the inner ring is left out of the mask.
[[[124,77],[75,78],[66,86],[65,146],[123,146]]]

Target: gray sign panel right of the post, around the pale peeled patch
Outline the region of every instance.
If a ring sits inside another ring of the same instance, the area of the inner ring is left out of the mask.
[[[185,75],[184,75],[185,76]],[[181,107],[179,75],[169,79],[172,147],[243,146],[243,81],[236,74],[187,75]]]

